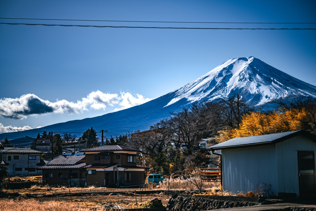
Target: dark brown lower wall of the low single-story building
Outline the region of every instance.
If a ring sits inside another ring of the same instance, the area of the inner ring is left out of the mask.
[[[45,177],[47,173],[52,174],[52,177]],[[58,173],[62,173],[63,177],[58,177]],[[69,179],[71,179],[68,178],[68,173],[77,173],[77,178],[81,177],[79,169],[43,169],[43,180],[46,180],[46,184],[49,185],[68,185]]]

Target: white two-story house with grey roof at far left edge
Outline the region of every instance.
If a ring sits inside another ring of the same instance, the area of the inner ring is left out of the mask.
[[[42,152],[26,147],[3,147],[0,154],[9,175],[41,174],[39,167],[45,165],[40,159]]]

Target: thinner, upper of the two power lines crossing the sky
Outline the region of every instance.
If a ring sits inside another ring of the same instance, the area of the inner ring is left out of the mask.
[[[101,22],[143,22],[143,23],[234,23],[234,24],[316,24],[295,22],[181,22],[181,21],[116,21],[116,20],[77,20],[77,19],[44,19],[44,18],[0,18],[18,20],[49,20],[49,21],[101,21]]]

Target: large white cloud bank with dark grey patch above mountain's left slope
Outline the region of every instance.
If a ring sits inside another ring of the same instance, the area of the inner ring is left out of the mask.
[[[87,97],[77,102],[57,100],[50,102],[34,94],[25,94],[19,98],[1,98],[0,116],[12,119],[24,119],[28,115],[41,115],[49,113],[79,114],[89,109],[106,109],[107,106],[117,106],[114,110],[127,109],[143,104],[152,99],[142,95],[132,95],[129,92],[118,94],[103,93],[99,90],[91,92]],[[8,126],[10,127],[10,126]],[[28,126],[27,126],[28,127]]]

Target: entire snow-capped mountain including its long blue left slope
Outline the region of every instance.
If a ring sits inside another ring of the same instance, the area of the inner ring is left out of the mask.
[[[169,116],[170,112],[178,112],[193,102],[213,101],[235,94],[239,94],[252,105],[259,105],[281,97],[316,97],[316,87],[254,57],[228,59],[200,78],[144,104],[93,118],[67,121],[6,135],[8,139],[14,139],[16,136],[36,136],[38,130],[59,133],[83,132],[90,127],[97,132],[107,130],[108,134],[142,131]]]

